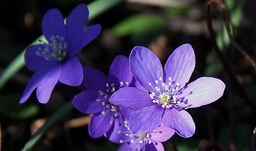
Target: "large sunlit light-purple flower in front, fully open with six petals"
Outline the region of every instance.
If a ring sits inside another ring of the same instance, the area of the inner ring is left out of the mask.
[[[129,57],[135,79],[148,91],[124,88],[115,92],[110,102],[135,110],[129,118],[131,132],[141,135],[153,131],[162,122],[182,137],[195,133],[195,124],[186,108],[200,107],[219,99],[225,84],[216,78],[201,77],[187,85],[195,67],[190,44],[178,47],[163,71],[155,53],[136,46]]]

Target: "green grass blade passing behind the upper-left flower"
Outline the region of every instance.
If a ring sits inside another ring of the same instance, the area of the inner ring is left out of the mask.
[[[87,5],[87,7],[89,9],[89,12],[90,12],[88,21],[90,21],[93,18],[96,18],[97,16],[101,15],[102,13],[107,11],[108,9],[116,6],[117,4],[119,4],[122,1],[125,1],[125,0],[95,0],[95,1],[91,2],[90,4]],[[43,35],[39,36],[30,45],[37,44],[38,39],[44,39],[44,36]],[[25,53],[26,49],[27,48],[25,48],[12,62],[10,62],[10,64],[1,73],[1,75],[0,75],[0,89],[3,88],[5,83],[8,80],[10,80],[11,77],[15,73],[17,73],[21,68],[24,67],[24,65],[25,65],[24,53]]]

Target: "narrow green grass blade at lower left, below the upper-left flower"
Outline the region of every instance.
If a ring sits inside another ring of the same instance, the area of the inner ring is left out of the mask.
[[[65,104],[63,107],[61,107],[59,110],[57,110],[53,115],[51,115],[46,123],[33,135],[31,138],[27,141],[27,143],[24,145],[23,149],[21,151],[30,151],[33,146],[36,144],[36,142],[42,137],[42,135],[46,132],[46,130],[54,124],[60,117],[62,117],[65,113],[73,109],[74,106],[72,104],[72,101]]]

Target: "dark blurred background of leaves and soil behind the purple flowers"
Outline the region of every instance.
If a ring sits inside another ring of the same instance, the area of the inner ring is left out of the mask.
[[[1,0],[0,73],[37,37],[48,9],[64,18],[78,4],[93,0]],[[252,151],[256,126],[256,69],[230,44],[221,9],[211,5],[210,15],[217,44],[228,59],[245,92],[238,89],[212,47],[205,15],[208,0],[127,0],[93,18],[86,26],[100,24],[101,33],[78,54],[82,65],[108,73],[119,54],[129,56],[134,46],[146,46],[165,64],[182,44],[192,45],[196,67],[190,82],[202,76],[226,84],[224,95],[210,105],[188,109],[196,124],[191,138],[178,134],[164,142],[165,151]],[[223,0],[235,41],[256,61],[256,1]],[[58,83],[47,104],[35,92],[24,104],[19,99],[33,72],[25,66],[0,89],[1,150],[19,151],[46,119],[80,91]],[[247,96],[249,99],[247,99]],[[248,103],[251,100],[251,104]],[[90,115],[73,108],[53,124],[32,151],[116,151],[119,144],[88,133]]]

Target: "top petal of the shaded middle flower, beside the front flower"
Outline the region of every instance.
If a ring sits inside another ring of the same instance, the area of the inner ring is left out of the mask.
[[[130,84],[132,81],[132,78],[133,78],[133,75],[130,70],[128,58],[124,55],[116,56],[112,64],[110,65],[110,71],[109,71],[110,83],[114,83],[115,88],[118,89],[121,81],[123,82],[124,85],[126,82]]]

